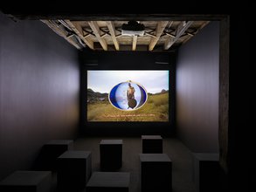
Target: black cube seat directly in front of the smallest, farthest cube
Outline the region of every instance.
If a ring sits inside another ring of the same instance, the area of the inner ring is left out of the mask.
[[[139,154],[141,161],[141,191],[170,192],[172,162],[167,154]]]

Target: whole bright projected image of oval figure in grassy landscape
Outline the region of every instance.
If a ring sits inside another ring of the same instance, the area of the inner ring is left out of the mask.
[[[169,71],[87,71],[87,121],[169,121]]]

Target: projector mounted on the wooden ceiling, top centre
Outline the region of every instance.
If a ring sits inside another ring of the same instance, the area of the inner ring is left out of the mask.
[[[145,26],[136,21],[128,21],[128,24],[121,25],[121,35],[143,36]]]

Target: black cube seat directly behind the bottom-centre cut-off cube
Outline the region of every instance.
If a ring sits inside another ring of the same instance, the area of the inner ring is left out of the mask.
[[[121,168],[122,140],[100,141],[100,168],[103,171],[114,171]]]

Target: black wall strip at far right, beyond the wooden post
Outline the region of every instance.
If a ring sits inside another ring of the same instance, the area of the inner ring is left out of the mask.
[[[252,8],[247,7],[247,8]],[[230,34],[230,89],[229,89],[229,180],[232,190],[255,191],[255,59],[251,40],[243,40],[241,33],[250,34],[253,10],[232,14]],[[240,24],[245,27],[241,28]],[[235,184],[234,184],[235,183]],[[231,191],[232,191],[231,190]]]

